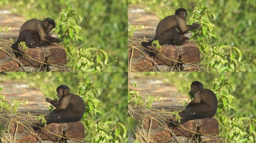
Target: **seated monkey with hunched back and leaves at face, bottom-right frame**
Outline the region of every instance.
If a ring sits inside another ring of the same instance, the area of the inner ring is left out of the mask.
[[[216,114],[218,107],[216,95],[210,89],[203,89],[201,82],[192,82],[189,94],[194,99],[187,105],[185,110],[180,112],[181,114],[187,114],[180,120],[180,124],[194,119],[211,118]]]

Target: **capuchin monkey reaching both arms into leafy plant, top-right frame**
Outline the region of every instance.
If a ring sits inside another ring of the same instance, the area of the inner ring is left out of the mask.
[[[156,35],[155,38],[150,40],[149,42],[141,42],[141,45],[144,48],[152,45],[154,40],[158,40],[159,44],[168,43],[170,45],[176,42],[176,45],[181,45],[182,41],[180,40],[180,34],[183,34],[187,31],[191,31],[192,29],[199,28],[199,23],[193,23],[192,25],[186,24],[186,17],[188,12],[186,9],[179,8],[175,11],[175,15],[167,16],[162,19],[157,27],[156,27]],[[176,30],[179,29],[180,33]]]

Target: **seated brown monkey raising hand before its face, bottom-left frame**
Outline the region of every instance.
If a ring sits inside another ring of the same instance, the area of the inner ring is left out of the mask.
[[[60,98],[58,102],[46,98],[47,102],[56,107],[54,111],[45,116],[46,124],[80,121],[85,112],[83,99],[70,93],[67,85],[58,86],[57,92]]]

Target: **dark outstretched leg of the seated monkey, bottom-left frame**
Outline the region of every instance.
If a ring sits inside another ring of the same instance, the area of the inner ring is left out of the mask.
[[[45,119],[46,119],[46,124],[51,124],[51,123],[77,122],[81,120],[81,117],[77,116],[76,111],[63,110],[56,114],[51,114],[51,115],[48,114],[46,115]]]

